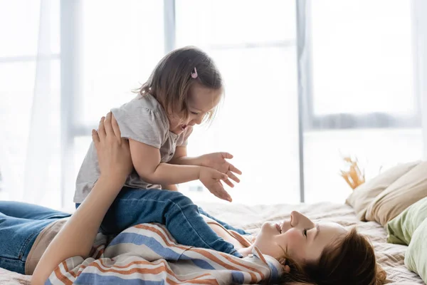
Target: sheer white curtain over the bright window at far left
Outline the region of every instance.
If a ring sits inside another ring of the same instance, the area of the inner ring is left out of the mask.
[[[0,1],[2,199],[58,207],[59,1]]]

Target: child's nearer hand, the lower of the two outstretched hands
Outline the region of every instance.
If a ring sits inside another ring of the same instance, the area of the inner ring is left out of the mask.
[[[221,184],[221,180],[224,182],[228,180],[227,175],[210,167],[201,167],[199,180],[216,197],[231,202],[231,196],[224,190]]]

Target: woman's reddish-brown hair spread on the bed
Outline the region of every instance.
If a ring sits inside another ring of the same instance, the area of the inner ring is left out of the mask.
[[[376,264],[374,248],[354,228],[326,247],[317,262],[286,261],[290,273],[283,274],[283,284],[379,285],[386,279],[386,272]]]

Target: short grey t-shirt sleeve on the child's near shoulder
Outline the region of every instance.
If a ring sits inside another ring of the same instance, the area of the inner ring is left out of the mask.
[[[167,124],[156,110],[152,110],[134,99],[120,108],[112,109],[122,133],[122,138],[142,142],[160,148],[166,140]]]

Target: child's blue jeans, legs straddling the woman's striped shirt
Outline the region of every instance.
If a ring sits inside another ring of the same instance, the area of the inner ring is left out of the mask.
[[[233,244],[218,237],[204,222],[199,207],[189,197],[170,190],[123,187],[105,214],[100,230],[104,234],[118,234],[135,224],[148,222],[166,225],[179,244],[215,249],[242,257]]]

